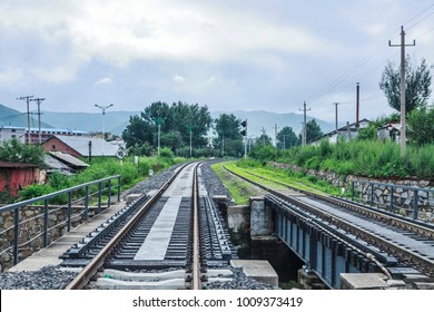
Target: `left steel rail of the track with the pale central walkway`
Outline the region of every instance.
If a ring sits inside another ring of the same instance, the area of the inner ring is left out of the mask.
[[[146,211],[154,205],[158,198],[161,197],[162,193],[169,187],[174,179],[179,173],[190,163],[183,165],[167,181],[161,188],[155,193],[149,201],[135,214],[135,216],[107,243],[103,248],[81,270],[81,272],[73,279],[66,290],[80,290],[85,287],[89,281],[95,276],[98,270],[103,265],[105,260],[112,253],[114,248],[127,236],[130,228],[132,228],[146,213]]]

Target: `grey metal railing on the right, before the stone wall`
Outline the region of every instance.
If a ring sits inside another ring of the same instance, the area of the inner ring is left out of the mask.
[[[413,220],[434,221],[434,189],[432,188],[353,181],[352,199]]]

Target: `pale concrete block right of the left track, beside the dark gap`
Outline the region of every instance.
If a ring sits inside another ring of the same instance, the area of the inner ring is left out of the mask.
[[[278,275],[266,260],[231,260],[230,265],[241,267],[246,276],[253,277],[258,282],[278,286]]]

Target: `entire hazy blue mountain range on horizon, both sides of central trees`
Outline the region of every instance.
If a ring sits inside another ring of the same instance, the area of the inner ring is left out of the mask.
[[[106,111],[105,115],[105,131],[115,135],[121,135],[122,130],[129,124],[129,118],[132,115],[138,115],[140,111]],[[275,126],[277,125],[277,131],[283,127],[293,127],[294,131],[298,135],[303,127],[302,114],[277,114],[265,110],[234,110],[234,111],[211,111],[213,119],[218,118],[221,114],[234,114],[237,118],[247,119],[247,131],[249,136],[260,136],[262,129],[274,138]],[[314,119],[307,116],[307,120]],[[328,133],[334,129],[334,126],[329,123],[316,119],[323,133]],[[0,105],[0,126],[22,126],[27,127],[26,113],[20,113],[12,108]],[[37,118],[32,118],[31,127],[37,127]],[[82,131],[100,131],[102,129],[102,114],[101,113],[53,113],[42,111],[41,126],[47,128],[67,128],[71,130]]]

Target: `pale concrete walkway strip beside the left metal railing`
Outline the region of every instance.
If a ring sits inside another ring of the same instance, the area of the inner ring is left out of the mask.
[[[20,271],[38,271],[47,265],[58,265],[62,262],[59,259],[67,250],[69,250],[73,244],[81,241],[88,233],[97,228],[103,222],[106,222],[110,216],[119,212],[125,207],[125,202],[111,204],[111,206],[102,211],[99,215],[92,217],[88,222],[80,224],[71,232],[67,233],[59,240],[55,241],[47,247],[36,252],[31,256],[24,259],[17,265],[10,267],[9,272],[20,272]]]

